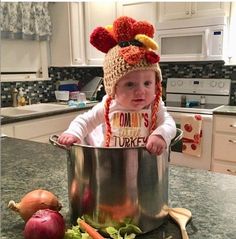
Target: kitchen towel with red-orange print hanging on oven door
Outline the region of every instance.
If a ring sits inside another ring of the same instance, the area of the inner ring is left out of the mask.
[[[181,118],[183,130],[182,153],[201,157],[202,117],[201,115],[184,115]]]

